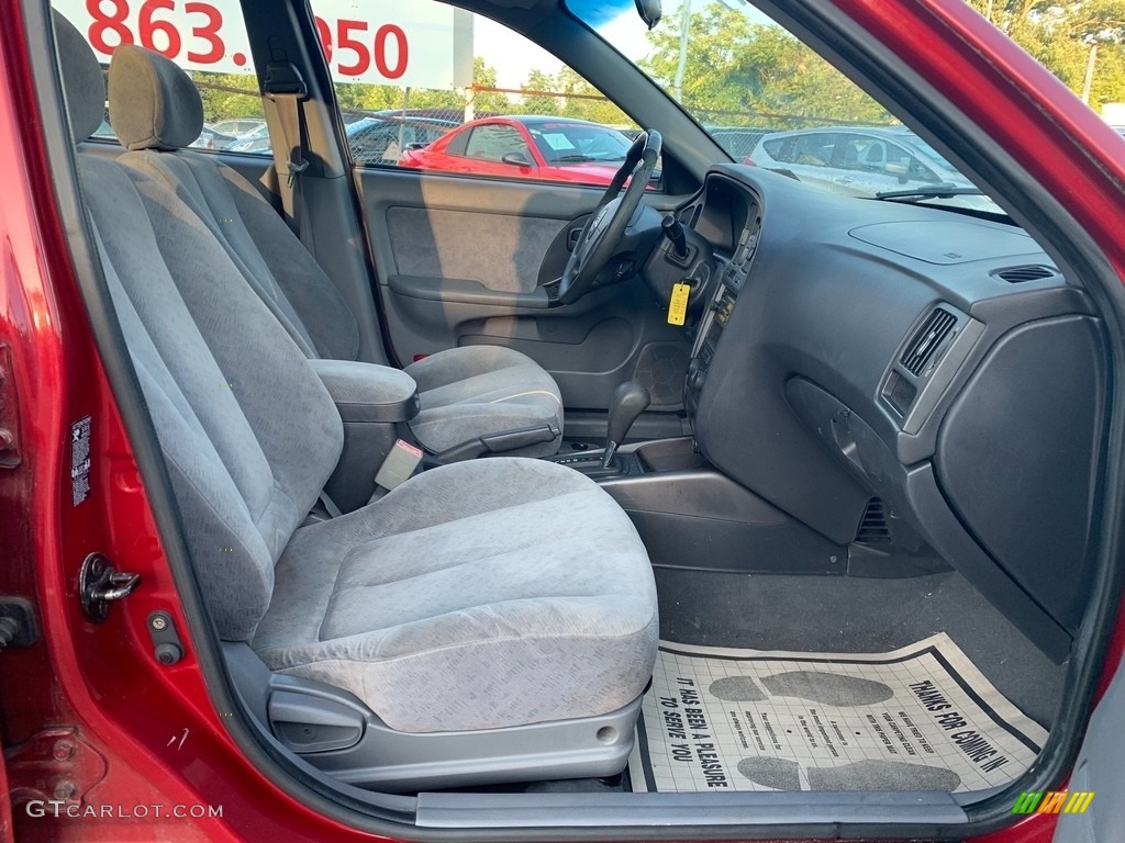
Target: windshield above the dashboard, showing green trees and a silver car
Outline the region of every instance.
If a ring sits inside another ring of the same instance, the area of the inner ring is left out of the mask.
[[[972,182],[926,140],[742,0],[665,0],[651,31],[633,0],[567,0],[567,8],[660,84],[737,163],[834,193],[917,190],[921,201],[999,211],[987,197],[972,196]],[[935,185],[945,192],[933,196],[940,192]]]

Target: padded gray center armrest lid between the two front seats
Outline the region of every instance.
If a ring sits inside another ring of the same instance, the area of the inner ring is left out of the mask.
[[[418,413],[417,384],[405,372],[351,360],[310,360],[344,422],[407,422]]]

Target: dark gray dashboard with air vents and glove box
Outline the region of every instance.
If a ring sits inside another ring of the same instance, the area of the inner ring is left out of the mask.
[[[1105,327],[1011,225],[719,165],[685,407],[720,471],[832,542],[957,568],[1062,660],[1084,611]]]

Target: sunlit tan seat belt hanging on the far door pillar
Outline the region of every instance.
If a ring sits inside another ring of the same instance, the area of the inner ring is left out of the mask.
[[[291,62],[271,62],[266,66],[263,92],[277,106],[281,126],[281,146],[273,147],[274,166],[281,175],[282,165],[287,174],[286,187],[281,190],[281,206],[289,228],[297,235],[308,253],[313,251],[313,232],[303,209],[302,175],[308,169],[305,157],[308,129],[305,124],[305,108],[308,89],[300,71]]]

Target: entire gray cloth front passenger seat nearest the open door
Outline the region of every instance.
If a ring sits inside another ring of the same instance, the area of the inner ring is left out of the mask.
[[[56,16],[55,27],[82,140],[101,119],[100,69],[72,26]],[[312,363],[166,184],[76,157],[223,640],[351,691],[403,732],[561,722],[639,697],[656,656],[656,589],[605,492],[552,463],[471,461],[300,526],[343,442]]]

